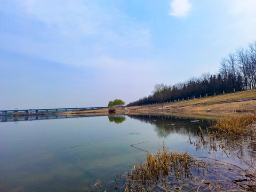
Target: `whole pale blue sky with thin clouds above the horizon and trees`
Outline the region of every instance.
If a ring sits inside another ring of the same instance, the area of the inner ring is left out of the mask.
[[[256,40],[255,0],[0,0],[0,110],[129,103]]]

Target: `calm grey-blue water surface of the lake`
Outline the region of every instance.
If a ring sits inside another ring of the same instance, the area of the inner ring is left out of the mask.
[[[117,175],[140,162],[145,151],[157,151],[163,141],[170,150],[227,160],[223,153],[196,150],[189,143],[189,133],[195,138],[198,126],[204,128],[209,120],[147,115],[55,117],[1,119],[0,191],[90,191],[98,179],[99,191],[113,191],[120,184],[118,179],[115,182]],[[234,158],[228,161],[237,163]]]

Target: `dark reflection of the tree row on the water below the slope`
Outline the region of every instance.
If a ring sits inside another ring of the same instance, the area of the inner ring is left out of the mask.
[[[127,115],[131,118],[138,119],[141,122],[155,125],[155,131],[161,138],[166,138],[171,133],[179,133],[188,137],[189,133],[197,132],[198,126],[204,128],[211,121],[199,119],[198,122],[193,122],[195,119],[187,117],[171,117],[171,116],[151,116],[151,115]]]

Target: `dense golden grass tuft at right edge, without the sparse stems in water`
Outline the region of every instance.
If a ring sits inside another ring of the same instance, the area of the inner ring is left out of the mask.
[[[211,129],[217,133],[241,135],[249,133],[249,125],[256,122],[255,114],[242,114],[223,117]]]

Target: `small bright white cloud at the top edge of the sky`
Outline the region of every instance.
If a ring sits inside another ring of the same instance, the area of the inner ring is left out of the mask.
[[[173,0],[171,2],[170,15],[174,17],[186,17],[191,10],[191,4],[188,0]]]

